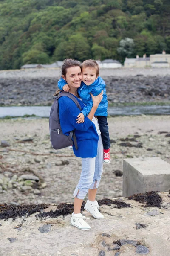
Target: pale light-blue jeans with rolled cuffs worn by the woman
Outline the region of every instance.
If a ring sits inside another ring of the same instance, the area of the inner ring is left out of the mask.
[[[94,158],[82,158],[82,172],[79,183],[74,190],[74,197],[84,199],[88,189],[97,189],[103,172],[103,144],[99,135],[97,155]]]

